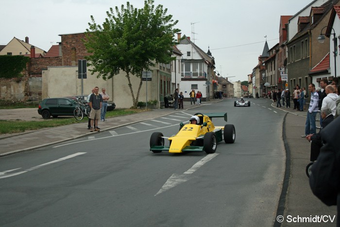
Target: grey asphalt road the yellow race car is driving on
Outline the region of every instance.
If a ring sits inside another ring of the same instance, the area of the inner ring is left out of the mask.
[[[2,169],[20,169],[0,178],[0,226],[272,226],[284,113],[262,99],[233,102],[2,157]],[[171,136],[196,112],[227,112],[236,142],[212,155],[149,151],[153,132]]]

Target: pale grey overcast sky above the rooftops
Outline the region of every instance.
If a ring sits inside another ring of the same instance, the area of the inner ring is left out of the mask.
[[[326,1],[326,0],[325,0]],[[230,81],[247,80],[262,54],[279,42],[281,15],[295,15],[312,0],[155,0],[179,20],[177,28],[215,57],[216,70]],[[130,0],[142,8],[144,0]],[[82,33],[90,16],[102,24],[106,11],[126,0],[1,0],[0,45],[13,37],[48,51],[60,34]],[[194,31],[195,40],[192,32]],[[232,77],[235,76],[235,77]]]

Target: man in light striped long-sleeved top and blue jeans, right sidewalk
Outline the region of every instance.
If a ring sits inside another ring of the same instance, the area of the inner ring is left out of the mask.
[[[307,112],[307,119],[305,125],[305,135],[301,137],[306,137],[309,134],[316,134],[316,125],[315,125],[315,116],[319,111],[318,103],[319,103],[319,95],[315,91],[315,85],[308,85],[308,90],[310,91],[310,103]]]

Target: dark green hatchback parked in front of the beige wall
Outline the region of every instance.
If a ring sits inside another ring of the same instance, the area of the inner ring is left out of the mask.
[[[49,98],[44,99],[38,108],[38,114],[44,119],[49,119],[51,116],[73,116],[73,111],[77,107],[76,97],[66,98]]]

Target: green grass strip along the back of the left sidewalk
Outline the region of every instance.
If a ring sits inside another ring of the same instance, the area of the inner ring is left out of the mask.
[[[108,117],[118,117],[128,114],[145,112],[145,109],[115,109],[106,113]],[[0,120],[0,134],[25,132],[27,130],[38,130],[42,128],[57,127],[66,124],[74,124],[87,122],[85,117],[82,121],[77,121],[75,118],[51,118],[43,121],[4,121]]]

